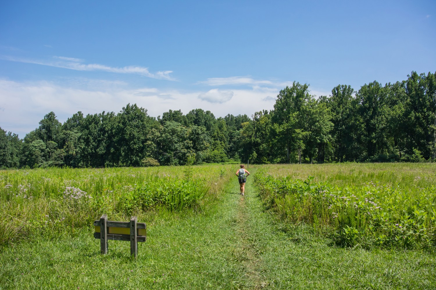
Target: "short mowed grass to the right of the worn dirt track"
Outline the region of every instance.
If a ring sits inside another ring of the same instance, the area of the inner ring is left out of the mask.
[[[250,170],[250,173],[255,170]],[[251,177],[251,176],[250,176]],[[249,177],[249,179],[250,179]],[[310,227],[286,226],[263,210],[248,180],[241,204],[244,234],[254,259],[246,275],[265,289],[436,289],[436,257],[423,251],[331,246]]]

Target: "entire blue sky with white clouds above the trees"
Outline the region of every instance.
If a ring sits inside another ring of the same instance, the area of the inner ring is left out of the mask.
[[[436,1],[2,1],[0,127],[22,138],[137,103],[272,109],[280,89],[404,80],[436,71]]]

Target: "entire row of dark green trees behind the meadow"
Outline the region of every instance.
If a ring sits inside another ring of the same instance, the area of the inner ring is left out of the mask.
[[[119,113],[78,112],[62,124],[50,112],[22,140],[0,128],[0,167],[434,161],[435,74],[413,71],[357,91],[338,85],[318,98],[293,82],[273,110],[251,118],[202,109],[155,118],[127,104]]]

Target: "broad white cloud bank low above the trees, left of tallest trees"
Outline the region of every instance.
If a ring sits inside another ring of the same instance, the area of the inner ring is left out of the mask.
[[[0,80],[0,127],[19,134],[20,138],[38,127],[44,115],[53,111],[62,123],[74,113],[118,113],[127,103],[136,103],[157,117],[168,110],[182,110],[184,114],[195,108],[210,110],[215,117],[271,110],[274,102],[265,102],[267,96],[276,96],[269,88],[221,91],[180,91],[153,87],[128,88],[125,83],[90,80],[89,83],[110,83],[108,86],[83,87],[59,85],[52,82],[15,82]],[[77,87],[81,87],[78,89]],[[211,92],[212,91],[212,92]],[[204,99],[199,99],[199,96]],[[214,99],[215,98],[215,99]],[[215,100],[215,102],[211,102]],[[224,101],[227,100],[227,101]]]

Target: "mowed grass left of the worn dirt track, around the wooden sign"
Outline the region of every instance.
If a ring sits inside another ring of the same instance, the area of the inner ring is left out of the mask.
[[[239,255],[240,195],[232,181],[200,212],[162,209],[150,219],[139,217],[147,223],[147,241],[138,243],[137,260],[130,257],[128,242],[109,241],[108,255],[101,255],[91,228],[8,247],[0,257],[0,289],[249,287]]]

